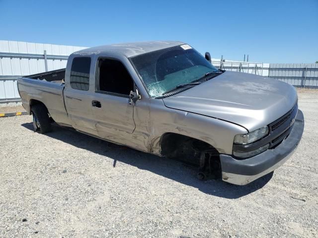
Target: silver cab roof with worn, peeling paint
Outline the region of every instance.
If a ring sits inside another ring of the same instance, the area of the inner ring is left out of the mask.
[[[183,42],[180,41],[145,41],[145,42],[132,42],[132,43],[122,43],[122,44],[113,44],[105,46],[97,46],[92,48],[87,48],[80,50],[73,54],[82,54],[82,53],[103,53],[103,52],[118,52],[126,57],[138,56],[144,53],[158,51],[174,46],[183,45]],[[85,54],[85,55],[86,55]]]

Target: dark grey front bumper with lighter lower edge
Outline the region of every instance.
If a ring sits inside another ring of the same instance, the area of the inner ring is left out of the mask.
[[[304,115],[298,110],[293,129],[288,137],[274,149],[254,157],[237,160],[230,155],[220,155],[222,180],[245,185],[283,165],[297,148],[304,131]]]

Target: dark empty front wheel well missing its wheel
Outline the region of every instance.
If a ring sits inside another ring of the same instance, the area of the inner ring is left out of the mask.
[[[199,164],[201,152],[209,153],[216,159],[219,159],[220,155],[212,145],[202,140],[172,132],[161,136],[160,147],[163,156],[196,165]]]

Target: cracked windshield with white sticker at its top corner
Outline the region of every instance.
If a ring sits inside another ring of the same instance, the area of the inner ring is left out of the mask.
[[[135,56],[131,61],[152,97],[158,97],[177,85],[193,82],[206,73],[218,72],[188,45]]]

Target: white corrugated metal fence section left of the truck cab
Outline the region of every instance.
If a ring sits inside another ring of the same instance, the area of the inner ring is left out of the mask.
[[[50,71],[65,68],[68,56],[85,48],[0,40],[0,103],[20,100],[17,77],[45,72],[44,51],[50,56],[47,59]]]

